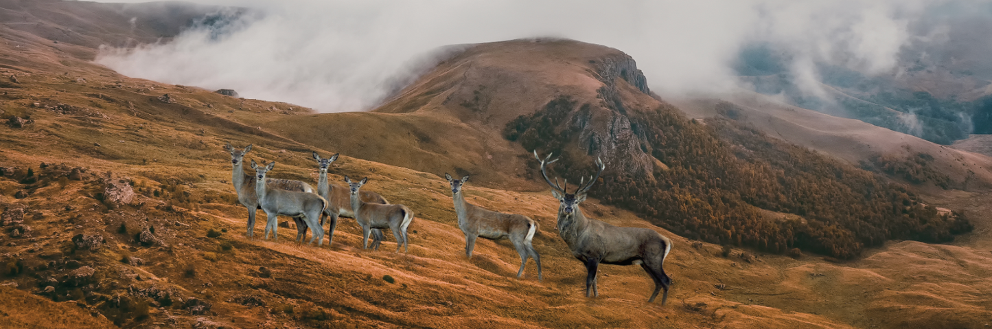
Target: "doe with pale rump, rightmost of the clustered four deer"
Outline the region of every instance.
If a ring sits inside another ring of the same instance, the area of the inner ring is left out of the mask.
[[[368,177],[361,181],[352,182],[348,176],[344,176],[344,182],[348,183],[351,192],[351,209],[355,213],[355,222],[362,227],[362,248],[368,248],[369,233],[372,229],[390,229],[393,237],[396,237],[396,252],[408,252],[410,249],[407,227],[414,220],[414,212],[404,205],[380,205],[366,203],[359,198],[359,189],[368,182]]]

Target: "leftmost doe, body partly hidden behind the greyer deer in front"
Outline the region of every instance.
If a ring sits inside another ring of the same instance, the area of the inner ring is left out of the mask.
[[[262,209],[258,205],[258,196],[255,195],[255,176],[245,174],[244,171],[244,157],[248,151],[251,151],[251,147],[252,145],[248,144],[244,150],[238,150],[234,146],[231,146],[231,143],[224,145],[224,150],[231,154],[231,164],[234,165],[234,171],[231,173],[231,183],[234,184],[234,190],[238,193],[238,202],[248,209],[248,238],[255,237],[255,213],[256,210]],[[313,193],[313,188],[310,187],[310,184],[301,181],[270,178],[266,182],[271,188]],[[301,227],[306,228],[303,219],[297,217],[293,220],[297,223],[298,230]],[[302,239],[303,237],[300,235],[297,236],[297,241],[302,241]]]

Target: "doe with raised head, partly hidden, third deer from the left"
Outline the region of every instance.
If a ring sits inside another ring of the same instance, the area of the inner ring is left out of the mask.
[[[316,182],[316,194],[327,200],[327,209],[323,211],[323,215],[320,215],[320,226],[323,226],[324,219],[330,219],[330,228],[327,230],[327,246],[330,246],[334,239],[334,228],[337,227],[337,218],[339,216],[355,218],[355,213],[351,211],[351,194],[348,193],[348,189],[340,185],[327,183],[327,168],[330,167],[330,164],[334,160],[337,160],[337,156],[338,154],[335,153],[329,158],[321,158],[316,151],[313,151],[313,160],[316,160],[317,170],[319,172],[319,178],[317,178]],[[360,197],[362,201],[370,204],[389,204],[386,198],[371,191],[361,191]],[[306,227],[303,228],[303,235],[307,235]],[[379,244],[382,243],[383,239],[382,230],[372,229],[372,249],[378,250]]]

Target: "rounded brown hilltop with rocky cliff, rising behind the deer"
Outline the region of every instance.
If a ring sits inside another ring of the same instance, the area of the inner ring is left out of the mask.
[[[618,50],[570,40],[515,40],[465,47],[374,112],[446,117],[475,127],[487,141],[504,139],[501,132],[513,130],[508,125],[514,122],[555,116],[554,127],[539,122],[528,128],[569,131],[568,143],[556,153],[568,152],[583,163],[602,157],[608,171],[651,177],[655,160],[628,118],[628,111],[660,105],[650,92],[634,60]],[[521,144],[508,145],[504,158],[533,150],[529,142]]]

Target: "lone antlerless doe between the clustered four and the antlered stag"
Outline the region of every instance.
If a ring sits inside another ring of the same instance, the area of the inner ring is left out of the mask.
[[[498,213],[466,202],[462,188],[468,181],[468,175],[461,179],[453,179],[450,174],[444,173],[444,178],[451,185],[458,228],[465,234],[465,255],[472,257],[472,249],[475,248],[475,239],[478,237],[489,240],[509,238],[513,247],[517,248],[517,253],[520,253],[520,270],[517,271],[517,277],[524,275],[527,258],[534,257],[534,261],[538,263],[538,280],[542,280],[544,275],[541,273],[541,255],[531,244],[534,234],[538,231],[538,223],[527,216]]]

